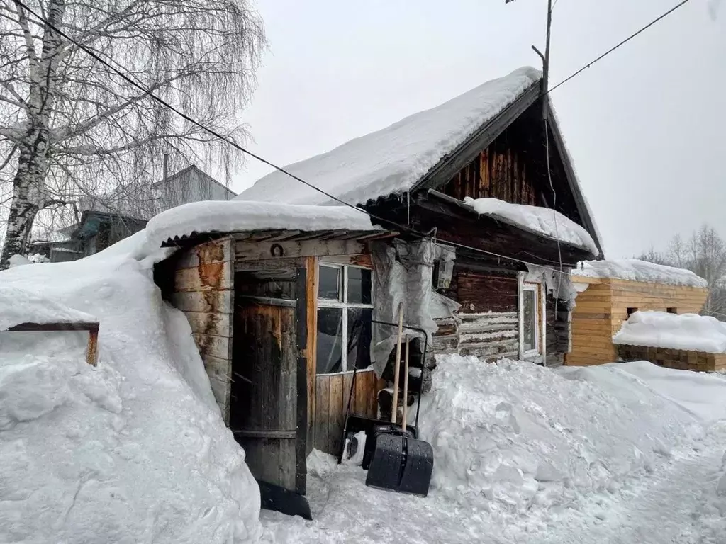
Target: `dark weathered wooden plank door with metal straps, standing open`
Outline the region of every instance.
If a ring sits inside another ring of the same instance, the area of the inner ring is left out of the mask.
[[[253,476],[301,495],[306,493],[305,276],[304,268],[277,269],[237,280],[247,283],[235,289],[229,421]]]

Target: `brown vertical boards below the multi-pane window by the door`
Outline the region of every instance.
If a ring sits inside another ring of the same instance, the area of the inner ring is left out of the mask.
[[[334,456],[340,453],[352,380],[352,372],[317,376],[315,449]],[[383,387],[385,384],[375,372],[359,371],[351,400],[351,415],[375,418],[378,412],[378,391]]]

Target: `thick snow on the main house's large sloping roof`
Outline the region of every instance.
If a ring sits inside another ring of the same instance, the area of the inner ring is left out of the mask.
[[[351,204],[405,192],[540,76],[539,70],[520,68],[445,104],[285,169]],[[264,176],[237,198],[291,204],[330,202],[324,194],[279,171]]]

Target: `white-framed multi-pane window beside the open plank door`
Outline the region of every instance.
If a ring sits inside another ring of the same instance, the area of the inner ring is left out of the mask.
[[[371,280],[367,268],[319,265],[317,374],[370,366]]]

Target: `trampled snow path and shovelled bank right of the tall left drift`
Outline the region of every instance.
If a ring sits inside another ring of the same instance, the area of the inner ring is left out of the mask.
[[[423,408],[437,467],[428,498],[372,490],[361,469],[317,453],[314,521],[263,512],[262,541],[726,542],[726,380],[648,363],[455,359]]]

